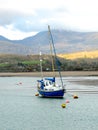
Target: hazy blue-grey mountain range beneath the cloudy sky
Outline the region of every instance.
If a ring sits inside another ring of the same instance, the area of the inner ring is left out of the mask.
[[[98,50],[98,32],[74,32],[52,30],[57,53]],[[38,54],[49,53],[49,35],[47,31],[22,40],[10,40],[0,36],[0,53]]]

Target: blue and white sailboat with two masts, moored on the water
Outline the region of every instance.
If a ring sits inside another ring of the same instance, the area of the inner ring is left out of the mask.
[[[62,98],[65,93],[65,87],[63,84],[61,72],[60,72],[60,62],[56,56],[56,50],[53,42],[53,37],[52,33],[50,30],[50,26],[48,25],[48,32],[50,36],[50,50],[51,50],[51,57],[52,57],[52,69],[53,69],[53,77],[43,77],[43,71],[42,71],[42,59],[41,59],[41,52],[40,52],[40,68],[41,68],[41,80],[37,80],[38,85],[37,85],[37,90],[39,95],[42,97],[57,97],[57,98]],[[54,62],[57,65],[58,72],[59,72],[59,77],[60,77],[60,82],[61,84],[56,83],[56,77],[55,77],[55,69],[54,69]]]

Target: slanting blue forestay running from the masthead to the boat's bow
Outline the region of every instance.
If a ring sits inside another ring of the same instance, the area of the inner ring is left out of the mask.
[[[52,44],[53,51],[54,51],[54,57],[55,57],[55,60],[56,60],[56,63],[57,63],[58,71],[59,71],[59,76],[60,76],[60,79],[61,79],[62,88],[64,88],[63,80],[62,80],[62,76],[61,76],[61,72],[60,72],[60,65],[59,65],[59,61],[58,61],[57,56],[56,56],[56,50],[55,50],[55,46],[54,46],[54,41],[53,41],[53,37],[52,37],[52,33],[51,33],[49,25],[48,25],[48,30],[49,30],[49,34],[50,34],[50,38],[51,38],[51,42],[52,42],[51,44]]]

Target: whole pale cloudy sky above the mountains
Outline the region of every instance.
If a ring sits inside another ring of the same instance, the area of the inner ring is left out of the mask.
[[[41,31],[98,32],[98,0],[0,0],[0,35],[18,40]]]

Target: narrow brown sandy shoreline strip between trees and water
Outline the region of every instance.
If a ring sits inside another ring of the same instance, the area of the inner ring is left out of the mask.
[[[98,71],[62,71],[62,77],[64,76],[98,76]],[[58,77],[58,72],[55,72],[56,77]],[[0,77],[40,77],[40,72],[7,72],[1,73]],[[53,76],[53,72],[44,72],[43,76],[51,77]]]

